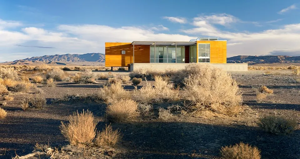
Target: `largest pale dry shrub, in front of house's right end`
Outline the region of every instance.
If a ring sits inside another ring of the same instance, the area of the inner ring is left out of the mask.
[[[184,78],[183,94],[185,100],[192,102],[189,110],[209,109],[227,114],[228,110],[232,110],[230,107],[241,105],[242,96],[237,82],[226,71],[208,64],[190,64],[185,71],[179,72],[190,74]]]

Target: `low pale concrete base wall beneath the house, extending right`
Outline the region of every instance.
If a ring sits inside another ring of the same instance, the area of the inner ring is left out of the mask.
[[[158,71],[183,69],[189,63],[131,63],[130,71],[137,69],[152,69]],[[200,63],[199,63],[200,64]],[[201,63],[211,64],[225,71],[248,71],[247,63]]]

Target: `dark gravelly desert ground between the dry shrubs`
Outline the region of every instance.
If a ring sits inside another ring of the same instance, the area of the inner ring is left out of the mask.
[[[7,112],[7,116],[0,119],[0,158],[17,158],[34,150],[46,152],[45,148],[35,146],[37,143],[56,150],[56,158],[222,158],[221,147],[240,142],[257,147],[262,158],[300,158],[300,76],[292,69],[227,72],[242,93],[243,111],[234,115],[209,109],[187,113],[182,109],[183,100],[158,100],[148,102],[151,109],[139,112],[136,118],[119,122],[108,119],[109,102],[93,95],[99,94],[109,79],[130,72],[98,70],[92,72],[97,78],[89,83],[57,80],[56,86],[46,87],[44,82],[37,83],[33,79],[35,76],[47,78],[47,71],[17,71],[19,75],[26,75],[33,86],[27,91],[10,92],[12,100],[0,101],[0,108]],[[82,71],[64,72],[73,77]],[[104,76],[103,79],[98,78],[99,75]],[[122,87],[131,93],[146,85],[153,86],[154,82],[143,79],[135,88],[129,81],[122,83]],[[261,86],[272,89],[273,93],[258,100],[257,89]],[[47,105],[23,110],[23,99],[36,91],[43,94]],[[180,93],[183,93],[181,89]],[[171,110],[163,114],[160,107]],[[68,123],[69,115],[83,110],[93,113],[98,131],[111,124],[113,130],[120,131],[122,140],[114,147],[66,146],[70,142],[61,133],[61,122]],[[258,123],[268,115],[296,120],[295,130],[279,135],[262,130]]]

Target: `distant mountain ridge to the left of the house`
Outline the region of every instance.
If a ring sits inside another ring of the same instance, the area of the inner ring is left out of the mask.
[[[105,62],[105,54],[88,53],[88,54],[63,54],[63,55],[44,55],[39,57],[25,58],[7,62],[11,64],[32,64],[32,63],[48,63],[48,64],[87,64],[97,65]]]

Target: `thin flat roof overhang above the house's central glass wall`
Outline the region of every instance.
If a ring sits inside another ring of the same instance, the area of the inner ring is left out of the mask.
[[[188,46],[192,44],[196,44],[197,42],[188,42],[188,41],[133,41],[131,44],[135,45],[170,45],[170,46]]]

